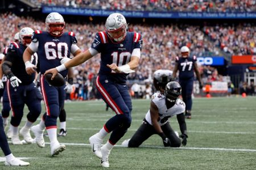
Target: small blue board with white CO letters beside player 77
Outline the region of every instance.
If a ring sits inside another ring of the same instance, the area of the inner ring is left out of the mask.
[[[197,57],[197,62],[201,65],[210,65],[210,66],[223,66],[224,57],[215,56],[215,57]]]

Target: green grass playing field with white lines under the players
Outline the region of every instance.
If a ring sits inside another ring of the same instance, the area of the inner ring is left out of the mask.
[[[133,100],[131,128],[113,148],[109,169],[256,169],[256,97],[193,99],[192,119],[186,120],[185,147],[164,148],[158,135],[139,148],[120,147],[138,129],[149,104],[150,100]],[[30,166],[5,167],[0,162],[0,169],[103,169],[88,139],[115,113],[106,112],[103,101],[69,102],[65,109],[68,134],[58,139],[67,150],[50,156],[48,137],[44,137],[48,143],[45,148],[36,144],[10,145],[16,157],[28,158]],[[180,133],[176,117],[171,118],[171,126]]]

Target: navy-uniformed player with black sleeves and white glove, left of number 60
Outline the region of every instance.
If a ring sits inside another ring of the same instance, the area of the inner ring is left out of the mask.
[[[23,52],[30,44],[33,32],[33,29],[29,27],[20,29],[20,42],[11,42],[5,61],[2,64],[3,73],[9,79],[6,87],[11,110],[13,111],[10,125],[13,131],[11,137],[13,145],[22,145],[19,139],[18,126],[23,117],[24,104],[27,105],[29,112],[26,124],[19,132],[27,143],[34,141],[30,135],[30,128],[41,113],[42,95],[38,88],[34,86],[35,74],[28,75],[23,63]]]

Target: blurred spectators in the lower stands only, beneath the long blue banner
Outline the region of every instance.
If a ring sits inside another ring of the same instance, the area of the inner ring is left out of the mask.
[[[24,18],[14,14],[1,14],[0,28],[0,50],[13,41],[13,37],[23,27],[31,27],[34,30],[44,30],[45,23],[36,21],[30,17]],[[104,30],[104,24],[73,24],[66,23],[66,31],[76,33],[78,45],[82,50],[89,48],[90,43],[95,36],[96,31]],[[180,47],[187,45],[192,49],[191,55],[197,57],[204,54],[217,56],[220,50],[234,54],[255,54],[255,29],[256,27],[224,27],[224,26],[205,26],[201,29],[200,26],[186,24],[168,24],[168,25],[148,25],[148,24],[130,24],[129,31],[137,31],[142,33],[143,49],[141,64],[136,73],[129,75],[129,84],[135,82],[150,82],[152,73],[158,69],[174,69],[175,57],[180,54]],[[244,31],[242,31],[244,30]],[[214,42],[214,43],[213,43]],[[222,48],[222,44],[225,46]],[[243,45],[245,48],[237,48],[237,45]],[[240,51],[236,50],[240,49]],[[246,49],[246,50],[242,50]],[[249,50],[250,49],[250,50]],[[100,55],[93,57],[88,62],[76,67],[75,71],[75,94],[77,98],[82,99],[94,98],[97,96],[97,90],[93,85],[95,83],[98,69],[100,68]],[[207,68],[209,69],[209,67]],[[204,66],[201,66],[201,75],[204,75]],[[214,68],[212,68],[213,70]],[[216,70],[216,69],[215,69]],[[206,71],[207,72],[207,71]],[[209,71],[208,71],[209,72]],[[204,83],[216,77],[216,71],[211,72]],[[217,74],[218,75],[218,74]],[[218,75],[221,80],[221,75]],[[217,78],[216,78],[217,79]],[[90,96],[87,94],[90,93]],[[92,97],[93,96],[93,97]]]

